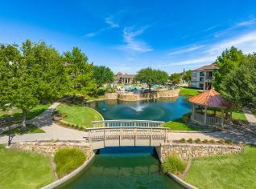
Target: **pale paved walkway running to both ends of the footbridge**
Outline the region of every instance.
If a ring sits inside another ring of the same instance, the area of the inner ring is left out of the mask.
[[[53,103],[41,115],[27,121],[27,123],[35,124],[45,133],[15,135],[12,142],[35,141],[35,140],[84,140],[88,134],[85,131],[77,131],[67,127],[60,127],[52,122],[52,112],[60,103]],[[232,139],[241,143],[256,144],[256,127],[254,124],[248,126],[229,127],[227,131],[222,132],[168,132],[168,140],[180,139]],[[7,143],[8,136],[0,135],[0,143]]]

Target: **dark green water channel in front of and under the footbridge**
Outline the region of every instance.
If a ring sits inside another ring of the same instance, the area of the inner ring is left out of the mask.
[[[159,171],[153,147],[107,147],[100,150],[80,175],[57,188],[183,187]]]

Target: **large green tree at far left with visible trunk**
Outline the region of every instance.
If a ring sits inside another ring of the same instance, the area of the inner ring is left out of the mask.
[[[4,52],[1,69],[9,77],[4,80],[4,93],[0,99],[23,111],[23,127],[26,127],[27,112],[40,101],[53,101],[64,93],[66,77],[60,54],[44,42],[23,42],[18,46],[3,46],[2,51],[11,49],[12,55]],[[7,54],[7,55],[6,55]],[[6,72],[7,71],[7,72]]]

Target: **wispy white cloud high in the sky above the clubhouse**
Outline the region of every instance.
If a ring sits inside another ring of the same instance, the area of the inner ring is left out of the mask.
[[[122,32],[123,41],[126,43],[125,45],[118,46],[118,49],[125,50],[131,55],[137,53],[145,53],[153,50],[151,46],[147,44],[147,42],[143,42],[142,40],[137,39],[139,35],[143,34],[144,31],[147,30],[147,27],[141,28],[139,30],[134,30],[134,28],[124,28]]]

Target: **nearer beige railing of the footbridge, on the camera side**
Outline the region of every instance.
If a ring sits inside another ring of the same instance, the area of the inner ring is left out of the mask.
[[[89,132],[89,142],[114,139],[167,140],[167,128],[163,127],[97,127],[86,130]]]

